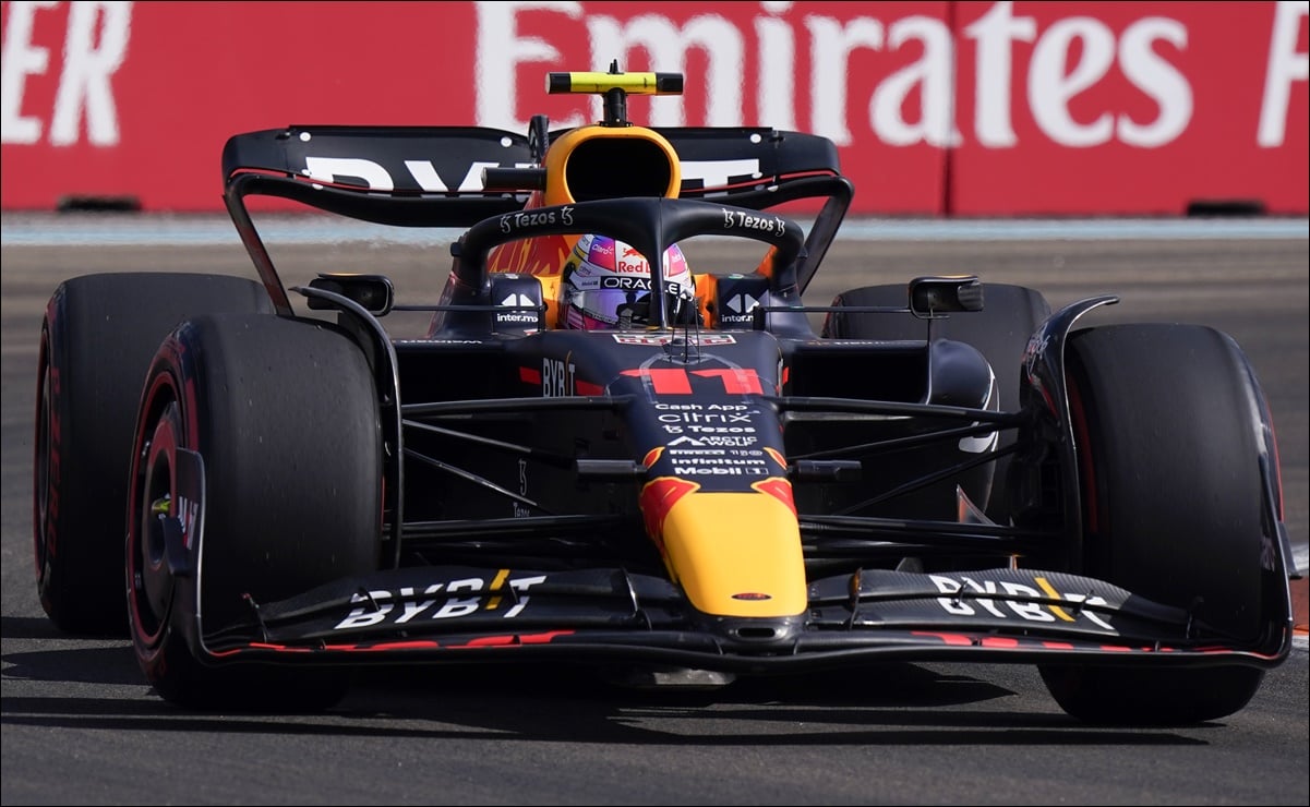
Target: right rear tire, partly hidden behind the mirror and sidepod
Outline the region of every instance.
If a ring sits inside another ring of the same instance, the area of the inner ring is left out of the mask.
[[[1051,304],[1032,288],[986,283],[980,312],[955,313],[935,325],[938,338],[972,345],[992,364],[1000,392],[1000,409],[1019,409],[1019,373],[1028,338],[1051,316]],[[905,284],[866,286],[841,292],[833,305],[900,307],[909,304]],[[823,335],[841,339],[922,339],[927,324],[909,313],[850,314],[833,312],[823,326]],[[1013,444],[1015,434],[1002,431],[998,448]],[[986,512],[994,521],[1009,520],[1006,476],[1009,457],[996,464]]]

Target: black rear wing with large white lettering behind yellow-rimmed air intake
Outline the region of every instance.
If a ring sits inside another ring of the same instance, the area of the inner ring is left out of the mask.
[[[571,130],[555,130],[548,139]],[[766,127],[668,127],[654,131],[677,153],[684,198],[764,210],[821,198],[799,267],[808,283],[854,194],[827,138]],[[528,190],[487,190],[487,168],[538,165],[524,135],[468,126],[290,126],[238,134],[223,148],[224,202],[279,310],[290,301],[245,206],[245,197],[292,199],[328,212],[397,227],[468,228],[515,212]]]

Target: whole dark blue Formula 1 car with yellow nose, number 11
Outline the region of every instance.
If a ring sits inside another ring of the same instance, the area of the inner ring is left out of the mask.
[[[808,305],[853,194],[836,147],[629,121],[681,85],[550,73],[604,117],[525,135],[231,138],[259,283],[89,275],[50,300],[51,620],[128,626],[198,709],[326,707],[363,664],[718,685],[888,660],[1035,664],[1094,722],[1242,709],[1289,652],[1297,571],[1238,345],[1076,329],[1116,297],[1052,312],[976,276]],[[250,197],[457,228],[439,301],[379,274],[288,288]],[[757,262],[688,258],[723,238]],[[423,337],[392,335],[400,310]]]

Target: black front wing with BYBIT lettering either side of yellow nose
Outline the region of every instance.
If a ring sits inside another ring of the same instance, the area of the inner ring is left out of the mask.
[[[211,626],[212,628],[212,626]],[[1272,667],[1290,626],[1222,637],[1183,609],[1062,572],[863,570],[810,586],[806,613],[773,620],[696,612],[667,579],[621,569],[381,571],[300,596],[250,601],[206,633],[212,663],[608,660],[738,673],[883,660]]]

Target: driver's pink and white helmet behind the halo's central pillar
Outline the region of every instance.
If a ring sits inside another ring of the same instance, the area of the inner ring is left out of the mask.
[[[694,322],[696,282],[676,244],[664,250],[664,284],[669,322]],[[561,328],[645,328],[650,318],[650,265],[639,252],[608,236],[582,236],[561,280]]]

